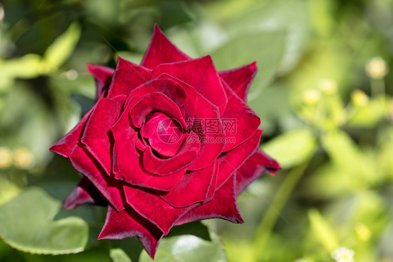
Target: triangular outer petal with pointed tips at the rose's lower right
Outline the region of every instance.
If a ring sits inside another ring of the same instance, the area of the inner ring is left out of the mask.
[[[235,196],[236,174],[215,192],[214,198],[191,210],[176,222],[176,226],[202,219],[220,218],[233,223],[243,223]]]

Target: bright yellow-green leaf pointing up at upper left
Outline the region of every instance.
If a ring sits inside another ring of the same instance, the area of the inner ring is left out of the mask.
[[[43,59],[48,71],[55,70],[68,59],[80,38],[80,25],[73,22],[69,28],[45,50]]]

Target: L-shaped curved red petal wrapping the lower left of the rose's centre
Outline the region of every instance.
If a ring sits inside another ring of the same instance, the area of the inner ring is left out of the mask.
[[[183,177],[185,169],[166,176],[149,173],[141,164],[142,152],[138,150],[138,133],[128,129],[115,135],[113,147],[113,175],[117,180],[137,187],[169,191]]]

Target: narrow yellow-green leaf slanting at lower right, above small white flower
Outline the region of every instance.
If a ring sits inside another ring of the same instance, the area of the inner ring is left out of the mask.
[[[308,211],[311,231],[324,246],[327,252],[332,252],[338,247],[338,238],[329,223],[321,216],[317,210]]]

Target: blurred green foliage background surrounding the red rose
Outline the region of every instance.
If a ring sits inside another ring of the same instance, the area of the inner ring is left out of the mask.
[[[80,175],[48,148],[94,103],[86,64],[138,63],[157,23],[218,70],[257,61],[248,101],[283,170],[239,196],[245,224],[174,228],[155,261],[392,262],[392,10],[393,0],[2,1],[0,261],[150,261],[135,239],[97,241],[105,208],[61,209]]]

